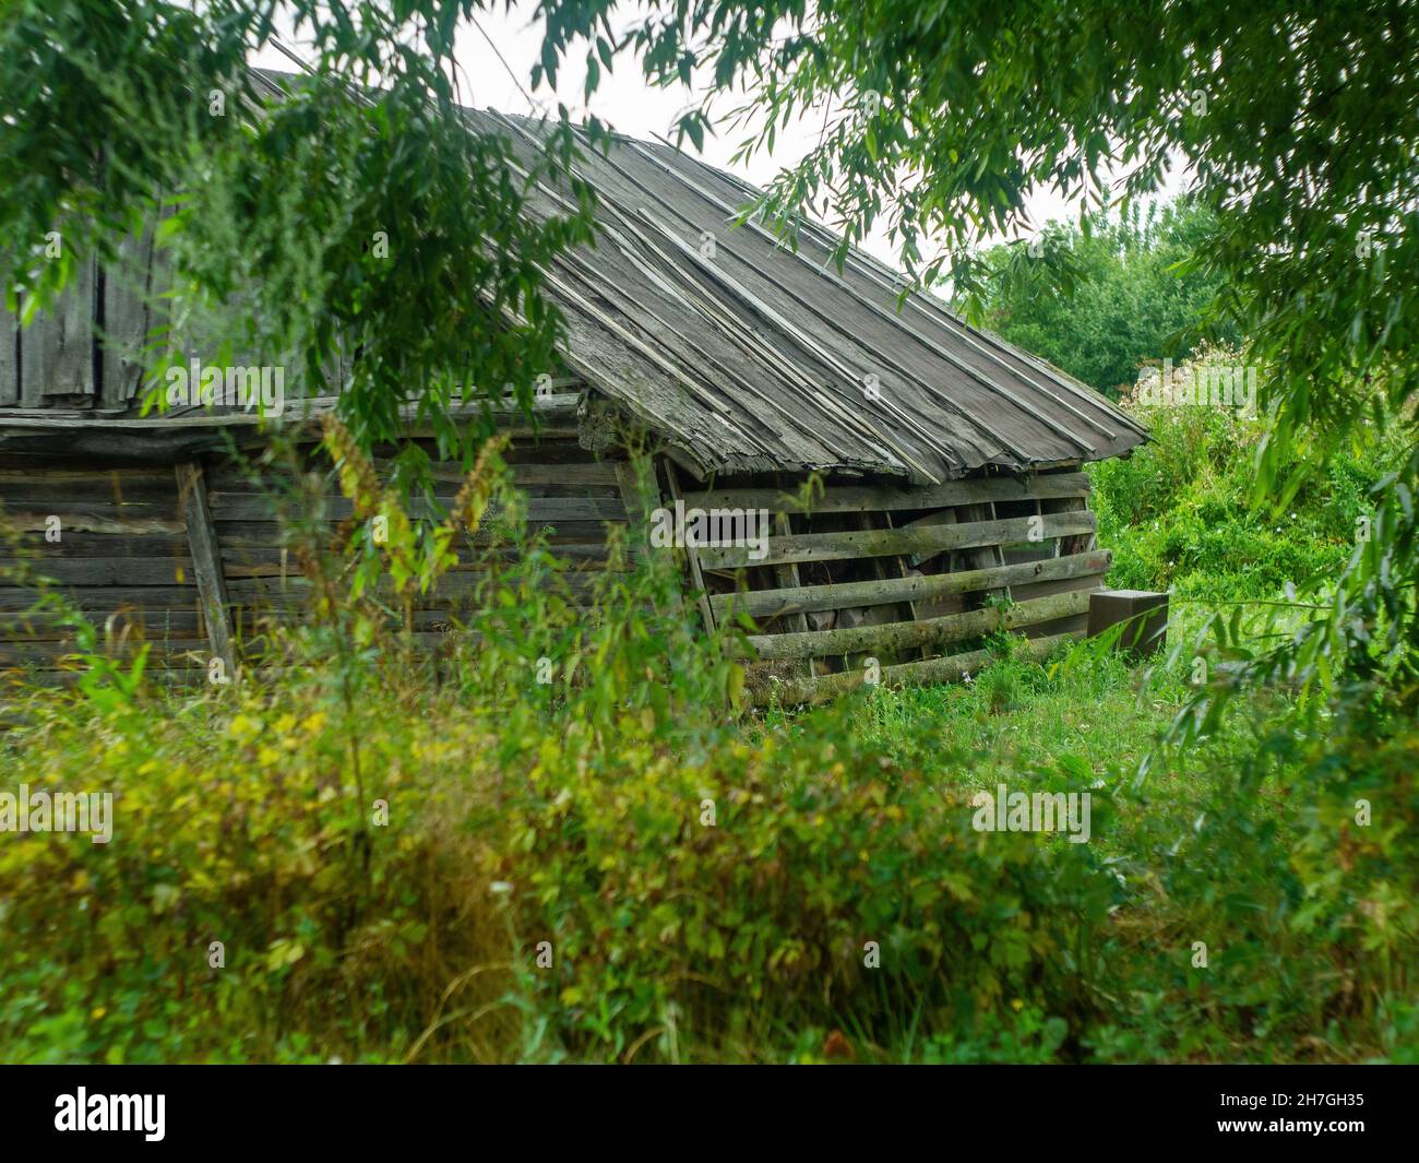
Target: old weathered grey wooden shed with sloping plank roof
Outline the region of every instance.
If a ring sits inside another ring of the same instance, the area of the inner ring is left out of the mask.
[[[535,122],[468,121],[534,148]],[[570,375],[539,402],[538,430],[507,415],[528,520],[559,552],[597,568],[607,523],[630,520],[614,435],[631,425],[654,440],[667,508],[771,514],[762,554],[683,550],[698,598],[687,611],[753,618],[786,699],[861,682],[868,657],[888,682],[959,676],[996,628],[1042,645],[1083,632],[1110,558],[1080,469],[1141,443],[1135,422],[929,294],[898,304],[897,274],[870,256],[839,271],[819,226],[797,250],[753,222],[735,229],[755,192],[668,145],[619,139],[582,172],[599,244],[548,271]],[[558,195],[542,197],[551,213]],[[148,239],[125,261],[123,277],[85,271],[28,328],[0,317],[0,501],[34,568],[99,621],[139,629],[170,676],[194,677],[213,653],[240,656],[258,613],[299,616],[304,591],[274,514],[224,452],[228,437],[264,439],[255,416],[139,415],[162,256]],[[332,406],[343,373],[291,423]],[[805,510],[793,497],[813,473],[826,487]],[[457,473],[440,479],[451,496]],[[346,511],[332,496],[326,515]],[[0,544],[0,565],[13,557]],[[464,557],[421,632],[478,578],[477,545]],[[58,677],[72,646],[23,616],[30,599],[0,575],[0,669]]]

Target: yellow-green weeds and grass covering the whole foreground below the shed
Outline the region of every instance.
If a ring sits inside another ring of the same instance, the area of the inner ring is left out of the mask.
[[[512,557],[437,662],[312,623],[297,666],[226,689],[18,696],[0,790],[115,807],[108,845],[0,846],[4,1056],[1419,1052],[1412,737],[1253,781],[1225,727],[1139,785],[1183,669],[1005,636],[969,684],[736,719],[732,650],[675,611],[671,562],[613,552],[587,616],[545,547]],[[1090,843],[975,831],[998,782],[1088,791]]]

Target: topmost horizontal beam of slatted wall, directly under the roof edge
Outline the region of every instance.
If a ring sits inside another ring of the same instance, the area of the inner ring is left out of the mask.
[[[1032,477],[971,477],[902,488],[890,484],[827,486],[805,508],[796,496],[778,488],[718,488],[685,493],[687,508],[768,508],[773,513],[863,513],[868,510],[948,508],[983,501],[1026,501],[1036,497],[1087,497],[1086,473],[1050,473]]]

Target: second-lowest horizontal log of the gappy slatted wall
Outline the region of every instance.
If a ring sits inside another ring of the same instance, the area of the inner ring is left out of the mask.
[[[807,633],[752,635],[749,646],[759,659],[822,657],[871,650],[904,650],[912,646],[944,646],[995,630],[1017,630],[1037,622],[1051,622],[1088,612],[1090,594],[1083,589],[1032,598],[1006,609],[985,608],[948,613],[924,622],[885,622],[853,626],[844,630],[809,630]]]

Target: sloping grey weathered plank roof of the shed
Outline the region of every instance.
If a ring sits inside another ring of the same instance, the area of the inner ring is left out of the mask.
[[[538,124],[470,112],[531,153]],[[797,250],[739,210],[758,192],[668,145],[578,166],[599,243],[559,257],[566,362],[701,471],[861,470],[934,483],[1117,456],[1144,430],[1104,396],[968,327],[807,223]],[[539,209],[568,209],[548,187]],[[535,209],[536,202],[534,203]]]

